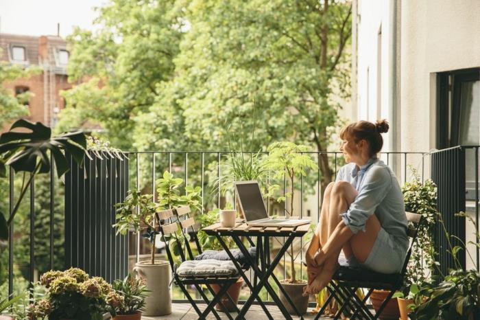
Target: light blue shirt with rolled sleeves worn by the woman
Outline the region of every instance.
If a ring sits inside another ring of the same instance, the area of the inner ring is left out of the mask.
[[[403,193],[394,172],[383,161],[374,157],[360,168],[348,163],[340,168],[336,181],[351,183],[359,193],[347,212],[341,214],[353,233],[365,231],[365,222],[375,214],[381,227],[407,249],[408,222]]]

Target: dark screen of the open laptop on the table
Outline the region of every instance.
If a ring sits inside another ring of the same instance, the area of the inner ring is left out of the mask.
[[[245,220],[254,221],[268,218],[259,183],[235,183],[235,187],[237,187]]]

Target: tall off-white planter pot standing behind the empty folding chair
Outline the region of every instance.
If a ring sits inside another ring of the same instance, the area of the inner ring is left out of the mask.
[[[137,262],[133,268],[137,277],[146,279],[149,296],[145,299],[144,316],[163,316],[171,314],[171,270],[168,261]]]

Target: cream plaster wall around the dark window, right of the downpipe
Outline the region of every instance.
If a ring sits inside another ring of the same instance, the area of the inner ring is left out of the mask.
[[[401,148],[430,150],[435,73],[480,67],[480,1],[402,1],[401,25]]]

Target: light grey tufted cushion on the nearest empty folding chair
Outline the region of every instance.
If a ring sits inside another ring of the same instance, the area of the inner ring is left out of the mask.
[[[230,277],[237,275],[239,271],[231,261],[207,259],[184,261],[178,266],[176,273],[180,277]]]

